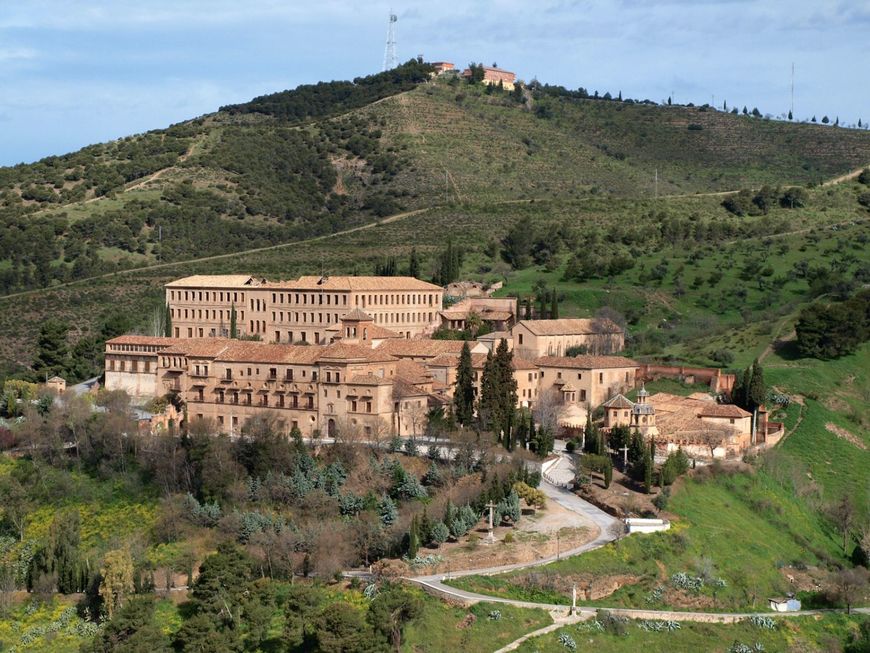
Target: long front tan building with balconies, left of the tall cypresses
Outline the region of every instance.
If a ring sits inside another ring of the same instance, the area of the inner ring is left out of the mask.
[[[285,432],[328,436],[419,432],[432,393],[431,378],[368,346],[144,336],[106,343],[106,387],[139,399],[175,394],[191,420],[231,434],[266,414]]]

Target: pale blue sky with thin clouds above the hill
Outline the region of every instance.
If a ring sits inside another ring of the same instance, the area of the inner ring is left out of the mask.
[[[0,0],[0,165],[377,72],[389,2]],[[400,60],[870,120],[870,1],[394,0]]]

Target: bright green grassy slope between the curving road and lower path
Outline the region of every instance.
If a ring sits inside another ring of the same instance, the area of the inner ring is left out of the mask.
[[[759,609],[767,596],[788,591],[779,568],[794,563],[841,562],[837,534],[790,487],[761,471],[691,480],[676,491],[668,511],[679,519],[664,533],[634,535],[615,544],[533,571],[471,576],[451,581],[467,590],[530,601],[567,604],[570,583],[601,576],[635,578],[589,605],[707,610]],[[750,571],[751,570],[751,571]],[[671,587],[677,572],[726,582],[683,596]],[[651,598],[664,587],[661,599]]]

